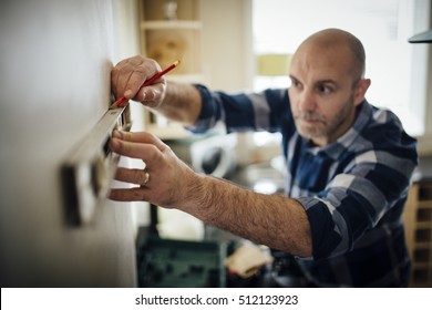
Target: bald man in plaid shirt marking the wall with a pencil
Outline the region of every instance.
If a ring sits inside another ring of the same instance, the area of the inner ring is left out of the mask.
[[[289,252],[316,286],[407,286],[401,215],[415,141],[394,114],[366,101],[371,82],[356,37],[338,29],[309,37],[292,56],[289,90],[229,95],[164,79],[141,89],[160,70],[141,56],[122,61],[112,72],[113,91],[194,131],[222,121],[228,131],[281,132],[286,195],[196,174],[155,136],[115,132],[112,149],[142,158],[146,168],[120,168],[117,179],[141,186],[112,189],[112,199],[177,208]]]

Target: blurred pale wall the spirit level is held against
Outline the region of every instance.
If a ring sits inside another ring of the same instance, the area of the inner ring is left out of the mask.
[[[131,208],[71,227],[60,178],[110,104],[115,0],[0,3],[1,286],[135,286]]]

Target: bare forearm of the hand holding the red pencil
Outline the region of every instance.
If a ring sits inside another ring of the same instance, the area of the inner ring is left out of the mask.
[[[200,107],[202,97],[194,85],[168,82],[165,99],[155,110],[168,120],[194,125]]]

